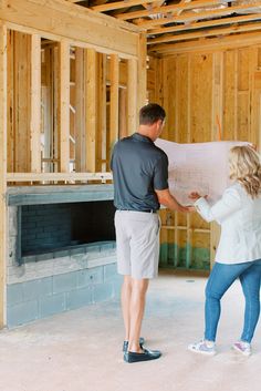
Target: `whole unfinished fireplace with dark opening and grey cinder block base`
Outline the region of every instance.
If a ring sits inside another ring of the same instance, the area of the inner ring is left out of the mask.
[[[8,191],[7,323],[118,297],[113,185]]]

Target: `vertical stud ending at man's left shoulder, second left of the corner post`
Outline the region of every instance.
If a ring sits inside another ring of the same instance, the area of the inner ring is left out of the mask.
[[[114,144],[118,140],[118,80],[119,62],[118,55],[111,55],[109,62],[111,86],[109,86],[109,146],[108,155],[111,157]]]

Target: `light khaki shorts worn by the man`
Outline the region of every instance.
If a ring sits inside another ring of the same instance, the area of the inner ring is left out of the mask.
[[[117,210],[115,214],[117,269],[136,279],[158,275],[160,219],[157,214]]]

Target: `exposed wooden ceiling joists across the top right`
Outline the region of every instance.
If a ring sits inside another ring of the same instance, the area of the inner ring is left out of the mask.
[[[146,31],[152,53],[261,30],[261,0],[66,0]],[[79,7],[77,7],[79,8]],[[186,42],[186,44],[187,44]]]

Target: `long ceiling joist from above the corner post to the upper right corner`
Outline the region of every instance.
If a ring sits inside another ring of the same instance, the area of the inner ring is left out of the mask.
[[[185,22],[191,22],[191,21],[197,21],[197,20],[208,19],[208,18],[211,18],[211,19],[220,18],[220,17],[230,16],[232,13],[237,13],[238,11],[246,11],[246,10],[250,10],[250,9],[254,10],[257,8],[261,9],[261,1],[259,1],[255,4],[236,6],[236,7],[229,7],[226,9],[205,11],[205,12],[198,12],[198,13],[188,12],[184,16],[175,16],[175,17],[170,17],[170,18],[167,16],[165,18],[153,19],[153,20],[148,20],[148,21],[144,21],[144,22],[140,22],[139,20],[137,20],[137,24],[140,28],[152,29],[158,24],[167,24],[167,23],[173,23],[173,22],[185,23]]]

